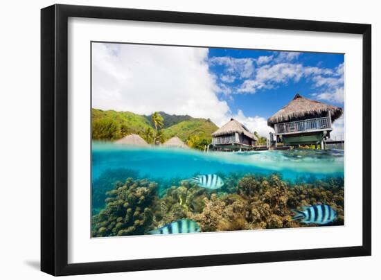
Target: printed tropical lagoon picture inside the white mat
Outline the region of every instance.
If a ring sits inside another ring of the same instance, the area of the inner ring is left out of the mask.
[[[344,69],[91,42],[91,237],[343,226]]]

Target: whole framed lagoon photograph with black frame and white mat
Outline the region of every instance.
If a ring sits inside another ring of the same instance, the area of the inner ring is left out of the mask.
[[[371,26],[41,13],[41,268],[371,254]]]

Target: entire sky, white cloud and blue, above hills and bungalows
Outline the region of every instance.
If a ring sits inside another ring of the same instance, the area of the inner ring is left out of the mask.
[[[344,107],[344,55],[92,43],[92,106],[234,118],[267,137],[267,119],[296,93]],[[344,137],[344,117],[333,135]]]

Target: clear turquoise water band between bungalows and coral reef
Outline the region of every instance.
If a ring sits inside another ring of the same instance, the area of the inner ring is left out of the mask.
[[[140,148],[93,142],[92,180],[105,170],[124,168],[139,177],[187,179],[198,174],[234,172],[297,177],[344,177],[344,150],[267,150],[258,152],[200,152],[190,149]]]

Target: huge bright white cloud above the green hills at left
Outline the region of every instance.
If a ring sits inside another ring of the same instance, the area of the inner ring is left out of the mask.
[[[229,106],[218,99],[220,87],[207,58],[203,48],[93,44],[92,106],[190,114],[221,123]]]

